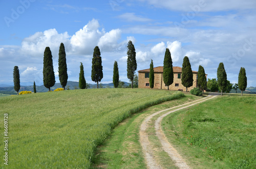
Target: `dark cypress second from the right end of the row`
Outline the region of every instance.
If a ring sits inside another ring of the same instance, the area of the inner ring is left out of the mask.
[[[224,68],[224,64],[222,62],[219,64],[219,67],[217,70],[217,78],[218,78],[218,85],[221,89],[221,95],[222,95],[222,90],[224,90],[227,87],[227,74]]]

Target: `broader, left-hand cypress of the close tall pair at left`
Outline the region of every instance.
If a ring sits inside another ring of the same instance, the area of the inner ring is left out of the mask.
[[[44,68],[42,70],[44,75],[44,85],[51,91],[51,87],[55,84],[55,76],[53,71],[52,52],[50,47],[46,47],[44,53]]]

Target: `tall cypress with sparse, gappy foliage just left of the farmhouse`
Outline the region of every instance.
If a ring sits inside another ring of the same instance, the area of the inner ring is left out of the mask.
[[[132,82],[133,88],[133,79],[135,70],[137,69],[137,62],[136,62],[136,52],[133,42],[130,40],[127,43],[127,78]]]

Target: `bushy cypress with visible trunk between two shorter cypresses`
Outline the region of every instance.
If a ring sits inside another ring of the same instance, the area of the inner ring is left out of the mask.
[[[97,83],[97,88],[99,88],[99,82],[103,78],[102,65],[101,65],[101,57],[99,47],[96,46],[93,52],[93,60],[92,60],[92,81]]]

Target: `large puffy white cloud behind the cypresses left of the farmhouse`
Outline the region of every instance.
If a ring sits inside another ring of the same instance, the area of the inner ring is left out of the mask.
[[[99,28],[98,20],[92,19],[72,36],[68,32],[58,33],[56,29],[36,32],[24,38],[19,51],[30,56],[41,56],[44,54],[45,47],[49,46],[53,57],[57,57],[61,42],[65,45],[66,53],[71,55],[91,55],[97,45],[101,51],[106,52],[116,50],[123,45],[123,42],[118,43],[122,33],[120,29],[105,32],[104,29],[100,31]],[[0,52],[3,50],[1,49]]]

